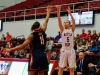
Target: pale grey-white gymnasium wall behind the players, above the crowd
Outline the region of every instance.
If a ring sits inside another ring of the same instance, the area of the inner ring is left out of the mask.
[[[67,17],[62,17],[62,21],[66,20]],[[6,34],[9,32],[14,37],[24,35],[25,38],[31,33],[31,25],[35,22],[39,21],[41,25],[44,22],[44,19],[37,20],[27,20],[27,21],[15,21],[15,22],[4,22],[3,23],[3,31],[0,34]],[[93,26],[84,26],[84,27],[76,27],[74,35],[81,33],[82,29],[85,29],[86,32],[90,30],[96,30],[97,33],[100,32],[100,14],[95,14],[95,24]],[[47,27],[47,36],[55,37],[58,34],[58,21],[57,18],[50,18]],[[0,35],[1,37],[1,35]]]

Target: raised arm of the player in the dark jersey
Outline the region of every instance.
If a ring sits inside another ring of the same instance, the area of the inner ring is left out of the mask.
[[[51,6],[48,6],[47,7],[47,16],[45,18],[45,21],[43,23],[43,26],[41,27],[42,30],[44,30],[44,31],[46,31],[46,29],[47,29],[47,24],[48,24],[48,20],[49,20],[51,11],[52,11],[52,7]]]

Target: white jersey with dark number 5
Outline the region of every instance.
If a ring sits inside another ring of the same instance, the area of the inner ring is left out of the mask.
[[[61,40],[62,40],[62,48],[65,49],[73,49],[73,32],[72,29],[64,29],[62,32]]]

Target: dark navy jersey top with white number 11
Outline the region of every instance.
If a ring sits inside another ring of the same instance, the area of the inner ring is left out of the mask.
[[[34,39],[31,42],[32,53],[45,52],[46,48],[46,33],[41,30],[39,32],[33,32]]]

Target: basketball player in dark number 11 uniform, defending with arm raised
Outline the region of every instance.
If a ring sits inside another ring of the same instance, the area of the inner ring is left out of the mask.
[[[35,22],[31,27],[31,30],[33,32],[28,36],[28,38],[23,44],[11,49],[7,49],[8,52],[21,50],[24,49],[29,44],[31,44],[32,50],[30,51],[30,57],[29,57],[28,75],[34,75],[36,71],[38,71],[38,75],[44,75],[44,71],[48,70],[49,66],[48,62],[50,61],[50,58],[48,58],[47,60],[47,56],[45,53],[45,47],[46,47],[45,31],[47,29],[47,23],[51,11],[52,7],[48,6],[47,16],[43,26],[40,26],[39,22]]]

